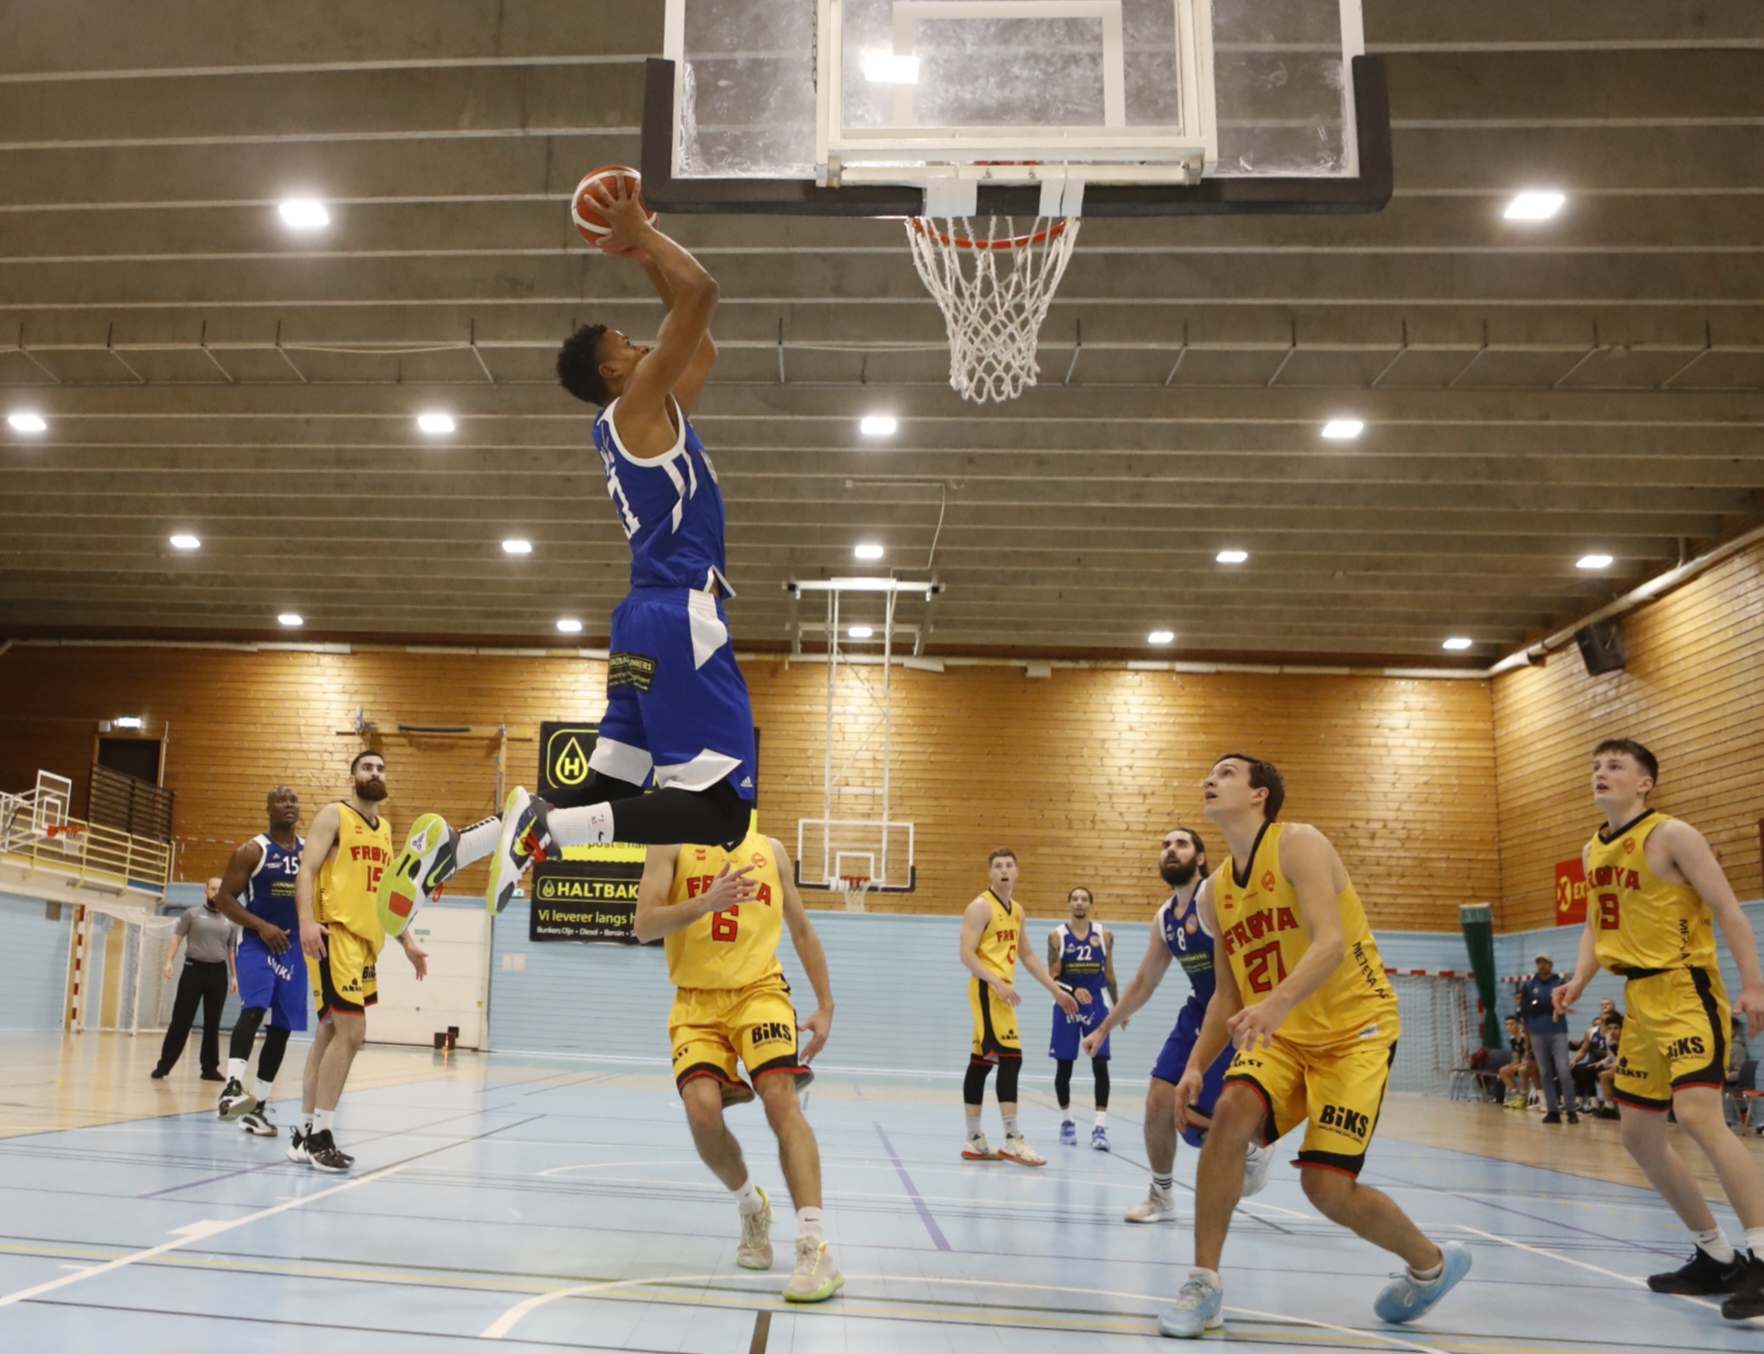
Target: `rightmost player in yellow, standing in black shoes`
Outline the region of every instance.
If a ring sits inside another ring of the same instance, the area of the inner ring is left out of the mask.
[[[1764,973],[1757,941],[1732,885],[1702,834],[1681,818],[1648,807],[1660,762],[1633,739],[1593,749],[1593,802],[1605,825],[1586,843],[1586,931],[1573,977],[1551,996],[1570,1010],[1600,966],[1623,984],[1623,1044],[1612,1098],[1623,1146],[1697,1241],[1690,1264],[1653,1275],[1648,1287],[1676,1294],[1732,1294],[1730,1321],[1764,1315],[1764,1174],[1727,1127],[1730,1014],[1715,961],[1720,920],[1739,970],[1732,1012],[1748,1033],[1764,1019]],[[1746,1229],[1750,1255],[1734,1250],[1702,1197],[1702,1187],[1672,1148],[1665,1114],[1674,1111],[1715,1167]]]

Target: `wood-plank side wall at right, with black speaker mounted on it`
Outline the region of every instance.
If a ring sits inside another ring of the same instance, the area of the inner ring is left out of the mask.
[[[1494,679],[1503,931],[1554,919],[1552,867],[1579,855],[1602,822],[1591,753],[1605,737],[1653,749],[1660,788],[1651,802],[1695,823],[1739,897],[1759,897],[1760,622],[1764,550],[1750,550],[1625,615],[1623,672],[1588,677],[1568,647]]]

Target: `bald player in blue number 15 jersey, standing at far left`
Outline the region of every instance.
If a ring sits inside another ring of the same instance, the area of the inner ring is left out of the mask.
[[[220,1088],[217,1116],[238,1120],[243,1132],[258,1137],[275,1137],[270,1090],[282,1068],[288,1037],[307,1028],[307,966],[300,947],[291,947],[289,940],[298,927],[295,878],[300,874],[300,848],[305,846],[295,832],[300,795],[293,786],[279,785],[270,792],[266,807],[268,830],[233,852],[220,874],[220,892],[215,894],[215,910],[243,931],[235,961],[240,1014],[228,1047],[226,1086]],[[265,1016],[270,1017],[270,1028],[263,1035],[263,1053],[258,1054],[258,1079],[247,1091],[250,1045]]]

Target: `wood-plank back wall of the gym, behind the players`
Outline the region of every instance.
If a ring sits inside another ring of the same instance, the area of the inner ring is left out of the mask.
[[[762,656],[746,672],[762,822],[790,843],[797,818],[820,815],[826,668]],[[878,681],[878,668],[841,670],[841,760],[868,732]],[[1124,668],[1030,679],[1018,666],[893,681],[894,816],[919,825],[919,889],[873,908],[953,911],[984,887],[986,852],[1009,844],[1030,911],[1055,915],[1087,883],[1106,915],[1148,917],[1162,896],[1157,839],[1178,820],[1207,829],[1198,783],[1228,749],[1282,767],[1286,816],[1337,841],[1378,924],[1455,929],[1459,903],[1498,889],[1494,843],[1476,829],[1496,816],[1485,682]],[[79,770],[99,718],[169,721],[180,873],[203,878],[261,830],[270,785],[295,785],[309,813],[344,790],[356,707],[381,726],[393,823],[423,809],[464,823],[494,807],[494,733],[392,725],[506,723],[510,781],[531,783],[540,721],[596,716],[603,682],[603,663],[573,656],[19,645],[0,658],[0,777]],[[871,770],[859,753],[854,779],[873,783]],[[457,887],[482,887],[482,867]]]

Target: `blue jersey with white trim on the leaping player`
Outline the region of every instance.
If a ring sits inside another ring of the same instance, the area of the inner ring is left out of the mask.
[[[679,437],[662,457],[639,460],[619,443],[614,400],[594,420],[594,450],[607,472],[607,494],[632,543],[632,587],[686,587],[736,592],[723,577],[723,492],[684,411]]]

